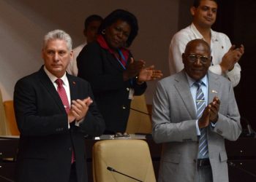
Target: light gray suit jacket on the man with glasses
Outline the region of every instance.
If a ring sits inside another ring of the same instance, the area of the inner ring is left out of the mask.
[[[227,182],[225,139],[236,141],[241,134],[240,114],[231,82],[208,71],[208,103],[220,100],[219,119],[208,126],[208,152],[214,182]],[[196,108],[185,71],[157,83],[154,93],[152,135],[162,144],[159,182],[195,181],[198,137]]]

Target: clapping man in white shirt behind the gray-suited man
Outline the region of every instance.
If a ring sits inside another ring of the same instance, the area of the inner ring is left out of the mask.
[[[203,39],[211,47],[212,63],[209,68],[215,74],[227,77],[235,87],[241,78],[241,67],[238,64],[244,54],[244,46],[232,45],[224,34],[211,30],[217,17],[216,0],[195,0],[190,12],[193,16],[192,24],[178,31],[170,42],[169,66],[170,74],[176,74],[184,68],[182,52],[192,39]]]

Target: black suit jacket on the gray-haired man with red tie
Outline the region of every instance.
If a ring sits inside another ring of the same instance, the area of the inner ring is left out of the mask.
[[[94,99],[88,82],[70,76],[71,100]],[[83,124],[68,129],[67,114],[58,92],[43,68],[20,79],[14,92],[15,116],[20,130],[16,180],[65,182],[69,180],[72,149],[78,181],[87,181],[84,135],[101,135],[105,122],[95,102]]]

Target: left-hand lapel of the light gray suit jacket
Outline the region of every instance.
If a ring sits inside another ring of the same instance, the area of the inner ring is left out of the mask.
[[[187,81],[184,70],[176,76],[175,87],[179,95],[181,96],[181,100],[184,102],[184,105],[186,106],[191,118],[196,118],[195,104],[189,89],[189,83]]]

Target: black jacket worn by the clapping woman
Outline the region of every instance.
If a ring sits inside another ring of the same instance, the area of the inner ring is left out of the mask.
[[[135,95],[141,95],[146,90],[146,83],[138,85],[135,78],[124,82],[124,68],[96,41],[83,47],[77,63],[78,76],[91,84],[97,106],[106,123],[106,130],[124,132],[131,103],[128,99],[129,88],[134,88]]]

